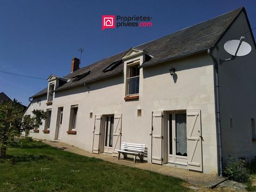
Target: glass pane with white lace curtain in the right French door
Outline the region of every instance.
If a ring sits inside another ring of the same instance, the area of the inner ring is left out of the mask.
[[[186,114],[175,115],[176,155],[187,156],[187,119]]]

